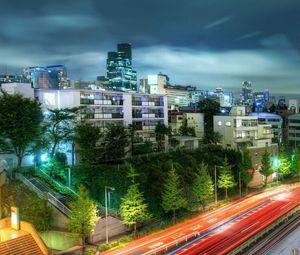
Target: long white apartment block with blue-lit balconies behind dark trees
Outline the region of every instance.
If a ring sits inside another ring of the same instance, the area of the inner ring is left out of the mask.
[[[9,93],[18,92],[38,99],[43,111],[81,107],[79,121],[105,127],[109,123],[128,126],[135,123],[138,136],[155,141],[155,126],[168,125],[167,97],[142,93],[124,93],[80,89],[33,89],[30,84],[3,84]],[[13,88],[13,89],[12,89]]]

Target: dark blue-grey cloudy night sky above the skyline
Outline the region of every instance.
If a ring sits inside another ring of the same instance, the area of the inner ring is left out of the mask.
[[[1,0],[0,9],[0,73],[65,64],[72,79],[95,79],[107,51],[130,42],[138,78],[300,92],[299,0]]]

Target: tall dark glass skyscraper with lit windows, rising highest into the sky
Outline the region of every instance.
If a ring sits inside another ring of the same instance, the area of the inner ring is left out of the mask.
[[[109,89],[137,91],[136,71],[132,70],[132,53],[129,43],[118,44],[118,50],[107,54],[107,78]]]

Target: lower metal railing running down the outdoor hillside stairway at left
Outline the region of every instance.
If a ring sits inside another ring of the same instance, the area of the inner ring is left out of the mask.
[[[28,188],[30,188],[32,191],[37,193],[37,195],[40,198],[46,199],[51,203],[53,206],[55,206],[58,210],[63,212],[66,216],[71,216],[71,210],[66,207],[62,202],[60,202],[55,196],[53,196],[49,192],[43,192],[38,187],[36,187],[30,180],[28,180],[26,177],[24,177],[22,174],[17,173],[16,178],[20,181],[22,181]]]

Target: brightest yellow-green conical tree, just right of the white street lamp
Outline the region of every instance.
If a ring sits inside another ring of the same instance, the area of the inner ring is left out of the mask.
[[[148,213],[148,205],[145,203],[143,194],[139,191],[139,184],[135,183],[137,173],[134,168],[130,168],[128,177],[131,178],[126,195],[121,198],[120,215],[122,223],[131,227],[134,226],[134,236],[136,236],[137,224],[148,220],[151,216]]]

